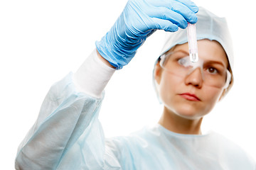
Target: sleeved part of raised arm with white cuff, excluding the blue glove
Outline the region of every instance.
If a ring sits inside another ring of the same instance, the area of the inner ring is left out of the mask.
[[[78,72],[50,88],[36,123],[18,147],[16,169],[102,167],[105,137],[98,113],[114,70],[94,50]]]

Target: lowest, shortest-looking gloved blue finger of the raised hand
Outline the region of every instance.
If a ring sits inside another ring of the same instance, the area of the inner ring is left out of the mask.
[[[174,23],[171,23],[168,20],[163,20],[160,18],[151,18],[151,23],[148,24],[148,27],[151,29],[157,29],[157,30],[165,30],[169,32],[175,32],[178,30],[178,26],[176,26]]]

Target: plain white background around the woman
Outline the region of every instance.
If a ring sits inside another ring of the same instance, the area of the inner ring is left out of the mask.
[[[235,48],[235,85],[203,127],[238,143],[256,159],[255,8],[251,1],[195,0],[228,19]],[[124,0],[0,2],[1,169],[14,169],[16,149],[35,122],[50,86],[75,72],[121,13]],[[151,35],[105,89],[105,135],[127,135],[159,120],[151,85],[164,31]]]

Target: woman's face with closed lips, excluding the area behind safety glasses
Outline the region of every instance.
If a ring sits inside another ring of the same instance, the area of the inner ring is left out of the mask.
[[[176,45],[173,51],[188,52],[188,43]],[[198,40],[198,55],[202,60],[220,63],[228,68],[225,51],[216,41]],[[178,77],[156,64],[155,79],[159,84],[159,96],[166,110],[191,120],[209,113],[224,89],[206,84],[199,68],[191,74]]]

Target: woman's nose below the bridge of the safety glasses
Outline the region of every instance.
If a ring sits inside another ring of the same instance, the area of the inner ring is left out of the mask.
[[[203,85],[203,74],[200,67],[193,69],[185,78],[186,85],[196,86],[198,89],[201,89]]]

